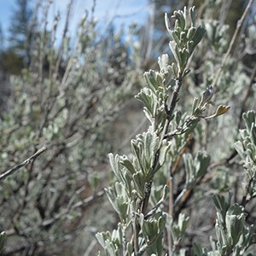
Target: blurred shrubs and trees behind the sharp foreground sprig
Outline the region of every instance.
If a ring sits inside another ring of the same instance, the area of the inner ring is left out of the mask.
[[[102,32],[94,5],[71,38],[73,1],[65,17],[55,15],[52,27],[47,23],[50,1],[17,1],[6,38],[8,48],[1,49],[1,173],[38,149],[46,150],[0,180],[0,230],[7,236],[3,255],[96,255],[101,249],[96,232],[113,230],[119,222],[103,192],[115,182],[108,153],[129,153],[131,138],[146,131],[148,121],[138,110],[142,107],[131,99],[145,84],[143,72],[158,69],[158,56],[167,53],[172,58],[164,12],[172,15],[185,4],[192,6],[187,2],[149,1],[148,22],[141,27],[131,25],[128,34],[114,26]],[[190,255],[194,243],[198,245],[195,255],[203,255],[201,247],[210,248],[210,236],[219,241],[212,195],[219,196],[215,205],[225,195],[226,206],[237,202],[245,207],[246,227],[255,223],[255,121],[253,113],[243,114],[255,110],[253,1],[237,23],[247,2],[193,3],[196,20],[206,32],[189,59],[190,73],[183,79],[175,114],[186,119],[193,99],[200,98],[210,84],[214,84],[211,101],[216,107],[224,103],[231,108],[218,119],[201,120],[187,137],[176,135],[165,168],[154,177],[149,207],[160,199],[164,185],[170,186],[171,170],[175,173],[173,200],[177,201],[173,222],[183,216],[180,213],[189,217],[189,221],[183,218],[186,229],[180,230],[172,245],[177,255],[185,251]],[[208,107],[208,114],[214,112],[215,107]],[[188,166],[198,165],[199,150],[211,160],[206,172],[186,187]],[[169,203],[167,197],[160,208],[168,212]],[[227,211],[228,207],[219,205],[219,214]],[[170,251],[164,247],[164,252]]]

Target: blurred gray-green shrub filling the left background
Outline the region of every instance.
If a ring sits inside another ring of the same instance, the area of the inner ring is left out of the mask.
[[[59,38],[61,17],[56,15],[49,28],[50,1],[40,4],[33,20],[37,31],[32,34],[30,66],[11,78],[11,107],[0,119],[1,170],[42,145],[47,151],[1,183],[0,226],[8,234],[8,253],[53,253],[62,249],[57,241],[76,234],[74,220],[81,208],[102,196],[98,184],[106,172],[96,176],[91,170],[111,148],[107,124],[138,82],[139,70],[128,55],[132,40],[123,42],[121,32],[105,38],[86,13],[73,42],[71,5]],[[122,75],[116,65],[122,66]],[[83,201],[86,197],[90,200]]]

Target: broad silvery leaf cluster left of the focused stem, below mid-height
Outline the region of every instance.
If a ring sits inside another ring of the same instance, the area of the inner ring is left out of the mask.
[[[160,144],[160,138],[156,136],[156,133],[147,131],[131,140],[132,160],[129,160],[125,155],[119,156],[117,154],[113,157],[113,154],[109,154],[110,165],[119,180],[119,184],[116,183],[115,189],[107,189],[106,191],[109,201],[111,201],[113,208],[122,215],[122,219],[125,216],[125,205],[122,206],[121,201],[127,202],[126,197],[131,198],[132,193],[136,193],[141,199],[144,198],[146,182],[151,179],[154,172],[157,172],[164,165],[170,146],[171,143],[166,142],[166,140]],[[159,157],[155,163],[157,151]],[[123,184],[122,188],[119,187],[121,183]]]

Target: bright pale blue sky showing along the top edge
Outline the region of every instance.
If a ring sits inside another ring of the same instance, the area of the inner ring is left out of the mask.
[[[68,2],[69,0],[54,0],[50,12],[52,18],[56,11],[60,11],[62,15],[65,15]],[[93,0],[74,0],[74,3],[71,27],[76,26],[79,19],[84,15],[85,9],[91,9]],[[132,21],[141,24],[145,21],[149,8],[147,0],[96,0],[95,16],[100,23],[106,25],[113,18],[116,26],[119,26],[119,24],[127,25]],[[0,0],[0,23],[5,38],[8,36],[7,31],[14,9],[15,0]]]

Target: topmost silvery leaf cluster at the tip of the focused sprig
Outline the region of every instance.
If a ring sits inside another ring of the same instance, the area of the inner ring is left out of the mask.
[[[172,72],[177,78],[184,75],[189,57],[204,37],[206,30],[202,26],[195,27],[195,7],[189,9],[189,14],[186,7],[183,11],[174,11],[172,18],[175,19],[174,30],[171,29],[171,21],[167,14],[165,15],[166,28],[172,38],[169,46],[177,65],[176,68],[176,65],[172,64]]]

